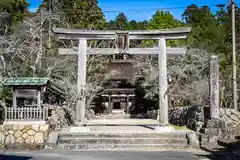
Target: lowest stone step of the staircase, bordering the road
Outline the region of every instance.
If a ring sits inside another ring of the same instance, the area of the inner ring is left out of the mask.
[[[188,145],[185,144],[58,144],[55,149],[119,149],[119,148],[151,148],[151,149],[182,149],[188,148]],[[52,148],[53,149],[53,148]]]

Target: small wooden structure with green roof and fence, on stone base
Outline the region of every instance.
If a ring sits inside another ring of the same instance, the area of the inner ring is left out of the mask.
[[[5,121],[45,121],[48,107],[60,105],[65,92],[48,78],[7,78],[3,86],[12,88],[12,107],[5,108]]]

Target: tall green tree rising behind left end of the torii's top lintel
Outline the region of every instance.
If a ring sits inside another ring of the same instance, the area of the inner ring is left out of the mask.
[[[61,14],[67,28],[103,29],[106,25],[104,14],[98,6],[98,0],[52,0],[52,10]],[[54,6],[54,7],[53,7]],[[40,6],[49,9],[49,0]]]

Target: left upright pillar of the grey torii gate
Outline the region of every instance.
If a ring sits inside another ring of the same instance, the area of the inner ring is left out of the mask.
[[[84,123],[85,118],[85,86],[87,70],[87,40],[79,39],[78,72],[77,72],[77,102],[76,102],[76,121],[80,125]]]

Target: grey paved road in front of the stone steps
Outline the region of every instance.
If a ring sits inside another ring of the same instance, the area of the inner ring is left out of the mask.
[[[0,160],[207,160],[206,157],[202,153],[185,151],[5,151],[0,155]]]

